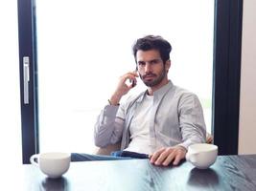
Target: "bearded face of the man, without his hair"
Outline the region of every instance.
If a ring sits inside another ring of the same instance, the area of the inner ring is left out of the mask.
[[[146,86],[154,87],[167,80],[166,66],[157,50],[139,50],[136,58],[140,78]],[[170,66],[167,67],[169,69]]]

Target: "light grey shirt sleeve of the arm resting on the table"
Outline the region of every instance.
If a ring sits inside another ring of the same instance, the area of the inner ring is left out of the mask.
[[[182,142],[178,145],[188,149],[191,144],[206,141],[205,122],[203,111],[194,94],[185,94],[180,98],[179,124]]]

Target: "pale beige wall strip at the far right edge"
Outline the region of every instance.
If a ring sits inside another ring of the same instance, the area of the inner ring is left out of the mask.
[[[239,154],[256,154],[256,1],[244,0]]]

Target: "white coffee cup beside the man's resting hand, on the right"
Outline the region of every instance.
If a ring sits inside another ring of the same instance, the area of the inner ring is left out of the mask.
[[[217,159],[218,146],[214,144],[198,143],[188,147],[186,159],[198,169],[209,168]]]

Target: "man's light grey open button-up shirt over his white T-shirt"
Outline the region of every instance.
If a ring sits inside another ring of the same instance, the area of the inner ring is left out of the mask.
[[[105,106],[95,124],[96,146],[121,142],[121,150],[128,148],[131,122],[146,95],[147,91],[129,96],[120,106]],[[175,86],[171,80],[153,93],[151,117],[148,118],[152,152],[162,147],[180,145],[188,148],[205,142],[205,123],[198,96]]]

